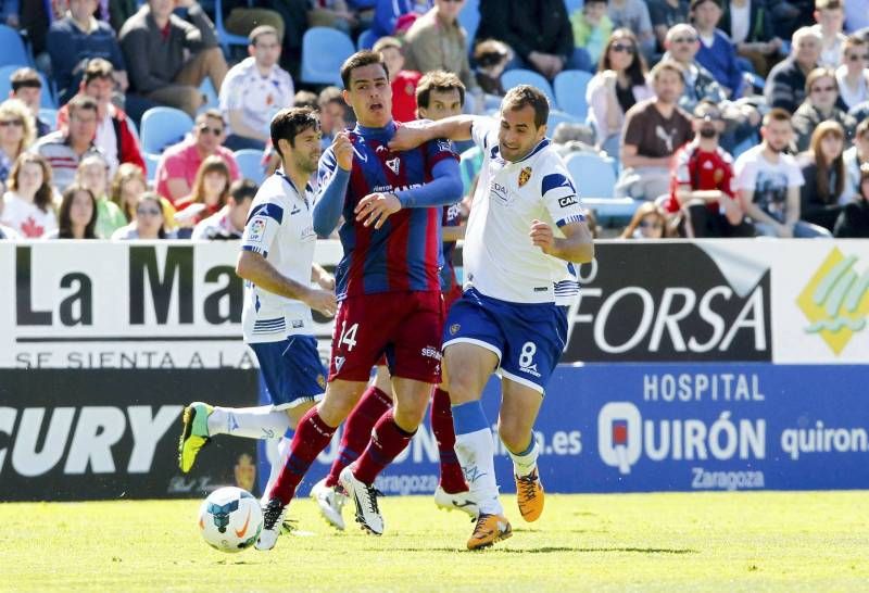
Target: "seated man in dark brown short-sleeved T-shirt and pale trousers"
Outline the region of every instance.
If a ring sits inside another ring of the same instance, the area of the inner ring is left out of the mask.
[[[691,119],[677,105],[682,96],[682,67],[672,60],[658,62],[651,73],[655,97],[633,105],[625,116],[621,175],[617,195],[654,200],[670,187],[670,160],[691,140]]]

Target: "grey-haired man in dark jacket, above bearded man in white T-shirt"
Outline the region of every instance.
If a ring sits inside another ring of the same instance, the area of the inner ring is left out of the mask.
[[[764,97],[771,108],[793,113],[806,99],[806,76],[818,66],[821,37],[810,27],[794,31],[791,55],[778,63],[769,73]]]

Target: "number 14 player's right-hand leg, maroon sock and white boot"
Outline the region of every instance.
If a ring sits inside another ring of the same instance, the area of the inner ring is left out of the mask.
[[[356,522],[368,533],[380,535],[385,529],[374,488],[377,475],[411,442],[423,422],[431,395],[431,384],[403,377],[392,378],[395,406],[374,427],[371,441],[358,460],[341,471],[341,484],[356,505]]]

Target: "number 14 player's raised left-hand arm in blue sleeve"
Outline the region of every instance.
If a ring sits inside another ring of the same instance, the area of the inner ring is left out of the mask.
[[[344,209],[344,197],[353,168],[353,144],[347,131],[339,131],[330,151],[323,155],[317,176],[320,179],[314,203],[314,232],[328,237],[338,226]],[[324,180],[325,179],[325,180]]]

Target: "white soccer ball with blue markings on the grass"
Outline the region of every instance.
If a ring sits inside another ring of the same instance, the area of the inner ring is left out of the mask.
[[[218,488],[199,507],[202,539],[221,552],[241,552],[252,546],[262,529],[260,501],[240,488]]]

